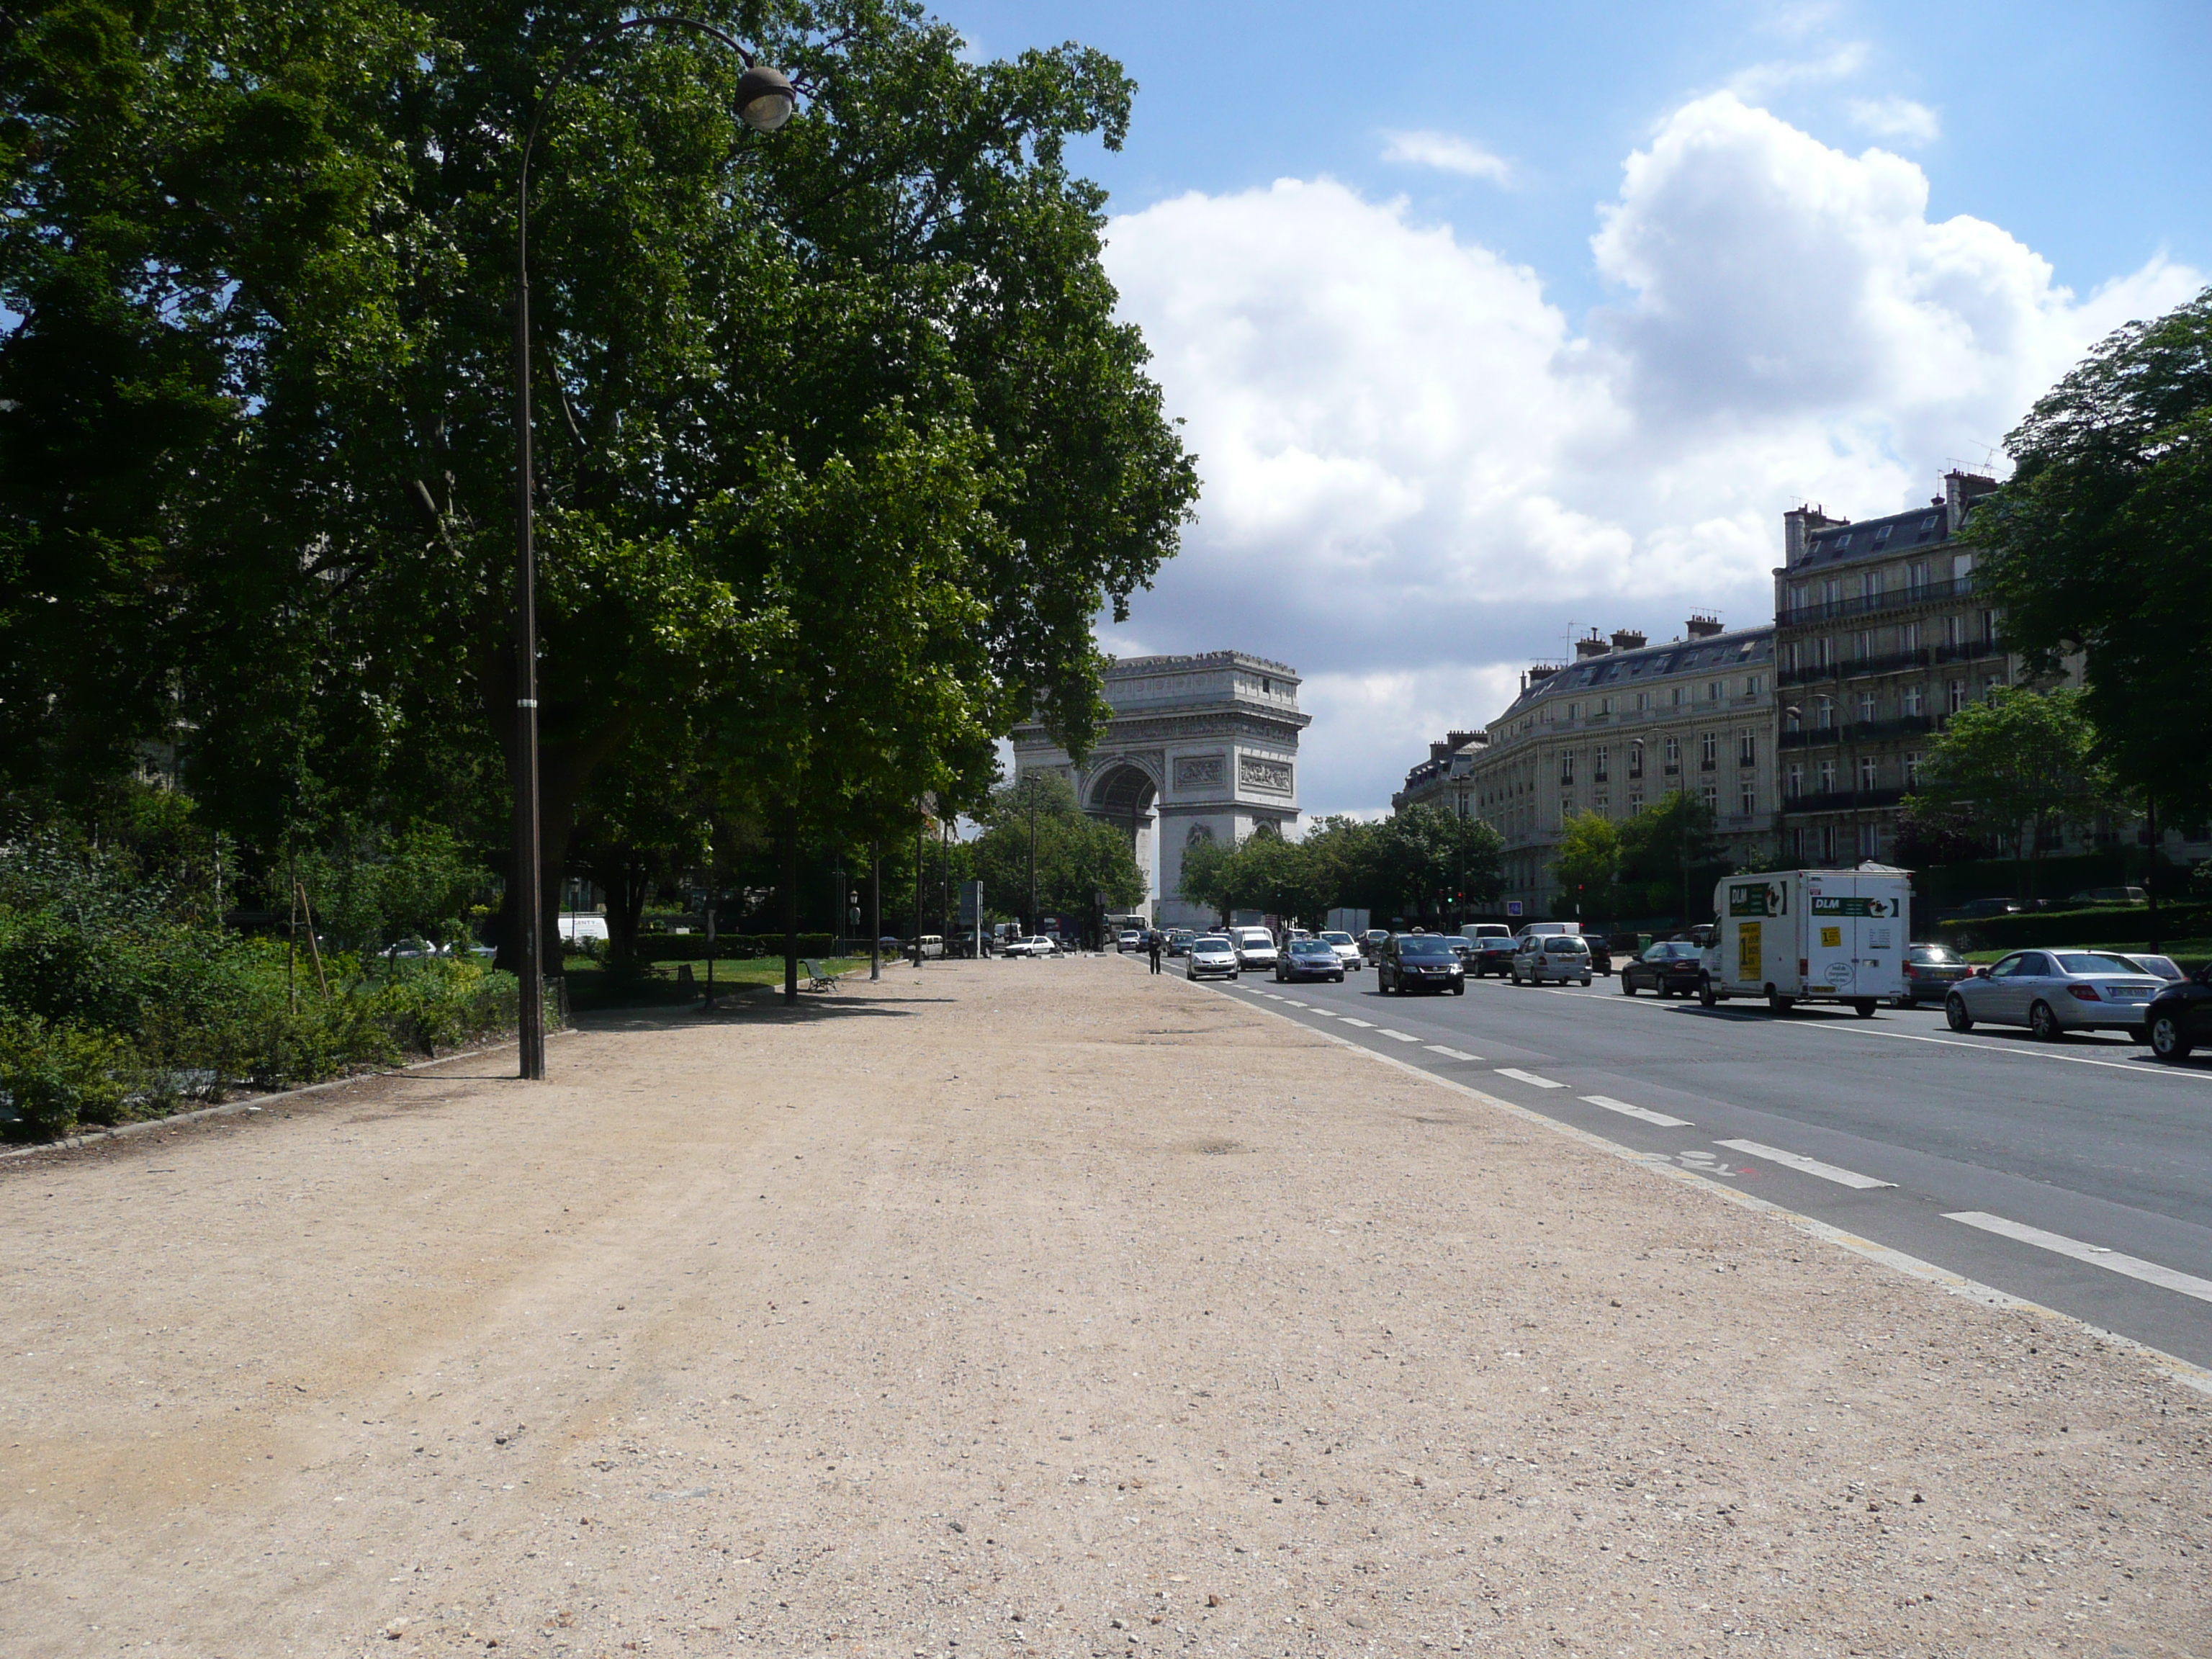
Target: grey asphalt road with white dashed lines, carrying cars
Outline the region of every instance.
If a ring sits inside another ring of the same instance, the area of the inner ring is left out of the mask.
[[[2212,1365],[2212,1062],[1958,1035],[1936,1009],[1708,1011],[1617,978],[1223,993]]]

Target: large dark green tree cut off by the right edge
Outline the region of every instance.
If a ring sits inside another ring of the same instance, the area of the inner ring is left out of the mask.
[[[2013,478],[1966,540],[2004,641],[2048,679],[2081,653],[2081,712],[2121,787],[2212,810],[2212,290],[2128,323],[2006,438]],[[2017,827],[2015,818],[2015,827]]]

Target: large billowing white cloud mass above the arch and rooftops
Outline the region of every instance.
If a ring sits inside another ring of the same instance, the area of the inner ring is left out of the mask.
[[[1770,617],[1783,509],[1933,493],[2101,334],[2203,285],[2152,261],[2077,296],[1927,206],[1916,164],[1714,93],[1626,159],[1593,237],[1615,299],[1579,323],[1526,265],[1332,179],[1115,219],[1206,482],[1133,630],[1301,668],[1314,812],[1385,803],[1571,622]]]

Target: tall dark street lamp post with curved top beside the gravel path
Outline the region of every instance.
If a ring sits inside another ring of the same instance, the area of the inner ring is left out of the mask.
[[[630,29],[688,29],[737,53],[745,73],[737,82],[737,119],[754,133],[774,133],[799,108],[799,93],[781,69],[752,60],[734,35],[699,18],[659,13],[626,18],[593,35],[584,51],[560,66],[531,115],[522,139],[522,173],[515,190],[515,929],[522,958],[518,1024],[522,1075],[546,1075],[544,1004],[544,849],[538,814],[538,551],[531,542],[531,153],[546,111],[568,75],[591,62],[599,46]],[[712,958],[708,960],[712,969]]]

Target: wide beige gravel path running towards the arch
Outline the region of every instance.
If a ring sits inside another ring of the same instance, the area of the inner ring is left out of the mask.
[[[0,1652],[2212,1652],[2212,1400],[1214,989],[551,1064],[0,1166]]]

